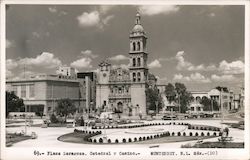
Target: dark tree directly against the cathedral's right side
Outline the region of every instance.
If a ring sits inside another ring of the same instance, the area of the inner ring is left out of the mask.
[[[146,89],[146,97],[147,97],[147,104],[149,105],[148,106],[149,110],[156,111],[156,105],[158,107],[158,111],[162,108],[163,106],[162,97],[156,87]],[[156,104],[157,102],[158,104]]]

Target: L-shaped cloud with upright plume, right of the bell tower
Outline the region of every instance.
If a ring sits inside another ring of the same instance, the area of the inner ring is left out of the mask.
[[[177,70],[188,70],[188,71],[214,71],[216,70],[216,66],[214,64],[210,64],[205,66],[204,64],[200,64],[195,66],[191,62],[188,62],[184,59],[185,52],[179,51],[177,52],[175,59],[177,60]]]

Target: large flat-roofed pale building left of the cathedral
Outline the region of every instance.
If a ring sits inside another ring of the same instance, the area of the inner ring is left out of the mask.
[[[7,80],[6,90],[13,91],[22,98],[27,112],[38,115],[53,113],[57,102],[69,98],[75,106],[81,105],[79,97],[79,82],[61,75],[36,75],[25,79]]]

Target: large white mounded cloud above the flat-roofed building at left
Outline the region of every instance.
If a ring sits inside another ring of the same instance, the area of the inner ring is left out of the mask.
[[[62,65],[59,58],[54,57],[53,53],[43,52],[36,58],[23,58],[20,59],[18,64],[26,65],[27,67],[43,67],[43,68],[57,68]]]

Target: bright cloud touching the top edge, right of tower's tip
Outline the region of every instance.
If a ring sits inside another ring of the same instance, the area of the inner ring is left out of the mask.
[[[176,5],[160,5],[160,6],[152,6],[152,5],[144,5],[139,6],[139,12],[142,15],[157,15],[157,14],[169,14],[179,11],[179,7]]]

